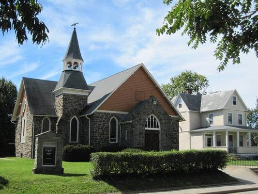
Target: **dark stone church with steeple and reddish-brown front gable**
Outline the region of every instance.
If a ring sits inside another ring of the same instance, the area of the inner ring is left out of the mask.
[[[48,130],[96,150],[179,148],[182,115],[143,64],[88,85],[75,28],[62,62],[58,82],[22,78],[12,117],[17,157],[34,158],[35,135]]]

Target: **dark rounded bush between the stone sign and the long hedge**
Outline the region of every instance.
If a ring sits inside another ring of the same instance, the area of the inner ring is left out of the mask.
[[[67,145],[63,146],[63,160],[64,161],[73,161],[73,162],[80,162],[80,161],[90,161],[91,152],[94,151],[92,146],[86,145]]]

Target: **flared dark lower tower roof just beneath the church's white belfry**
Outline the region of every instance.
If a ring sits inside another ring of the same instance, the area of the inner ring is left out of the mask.
[[[55,87],[55,90],[65,87],[81,90],[90,90],[81,71],[64,70]]]

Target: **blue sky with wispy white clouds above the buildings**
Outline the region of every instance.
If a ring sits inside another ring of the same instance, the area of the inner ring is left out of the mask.
[[[88,83],[144,63],[160,83],[171,76],[192,70],[208,77],[210,91],[237,89],[249,108],[258,96],[258,59],[254,51],[241,55],[241,65],[228,64],[216,70],[216,45],[194,50],[188,36],[157,36],[169,7],[162,0],[39,0],[40,19],[49,29],[49,43],[42,48],[28,43],[18,46],[14,32],[0,35],[0,76],[19,86],[22,77],[58,81],[62,58],[76,27],[83,72]]]

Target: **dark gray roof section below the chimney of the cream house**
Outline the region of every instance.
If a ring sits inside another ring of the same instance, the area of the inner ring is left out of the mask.
[[[192,95],[192,94],[180,93],[179,95],[182,97],[182,100],[184,101],[189,111],[198,111],[198,112],[200,111],[200,107],[201,107],[200,94]]]

